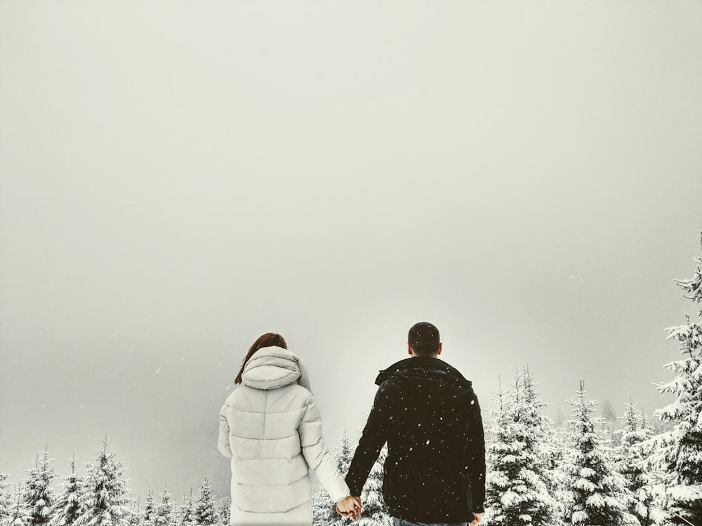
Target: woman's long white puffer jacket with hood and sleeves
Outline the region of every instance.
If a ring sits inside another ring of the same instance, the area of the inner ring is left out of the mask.
[[[265,347],[220,410],[218,449],[232,459],[231,525],[312,524],[310,468],[335,502],[350,494],[324,445],[300,358]]]

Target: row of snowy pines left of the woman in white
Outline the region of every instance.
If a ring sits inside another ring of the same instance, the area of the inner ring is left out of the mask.
[[[75,458],[71,472],[59,489],[48,449],[37,456],[27,478],[16,485],[0,473],[0,526],[213,526],[228,525],[230,500],[212,496],[205,476],[199,492],[173,500],[164,487],[157,499],[151,490],[143,503],[126,487],[124,466],[102,440],[93,463],[86,464],[84,475],[76,473]]]

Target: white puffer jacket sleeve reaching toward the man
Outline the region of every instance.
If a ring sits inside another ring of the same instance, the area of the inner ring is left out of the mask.
[[[307,465],[314,469],[314,473],[326,492],[329,493],[329,497],[334,502],[348,497],[351,492],[336,467],[336,460],[326,449],[326,445],[324,445],[322,417],[319,414],[319,409],[312,393],[307,399],[307,407],[300,421],[298,433],[300,435],[300,445],[303,449],[303,457],[305,457]]]

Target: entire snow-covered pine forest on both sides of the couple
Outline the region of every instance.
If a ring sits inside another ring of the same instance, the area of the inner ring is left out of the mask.
[[[702,257],[694,276],[676,280],[685,298],[702,306]],[[695,317],[696,316],[696,317]],[[542,414],[534,372],[512,371],[494,391],[487,431],[486,513],[495,526],[702,526],[702,309],[668,328],[680,356],[665,367],[673,375],[658,391],[675,398],[645,414],[621,403],[616,426],[600,416],[583,380],[574,386],[569,419]],[[671,353],[672,355],[673,353]],[[607,413],[607,412],[604,412]],[[657,425],[654,423],[658,422]],[[381,492],[381,452],[361,495],[359,526],[390,526]],[[342,473],[353,447],[348,434],[335,447]],[[59,478],[48,450],[25,476],[0,473],[0,526],[211,526],[229,522],[230,501],[215,497],[205,477],[196,492],[173,497],[167,487],[145,496],[128,490],[124,466],[107,438],[84,471],[71,459]],[[2,466],[0,466],[1,469]],[[320,488],[313,497],[315,526],[339,525]]]

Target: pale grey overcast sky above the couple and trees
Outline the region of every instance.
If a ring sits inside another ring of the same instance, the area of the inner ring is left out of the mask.
[[[431,321],[489,406],[529,364],[662,407],[694,314],[699,1],[0,1],[0,471],[105,434],[228,491],[258,335],[330,446]]]

